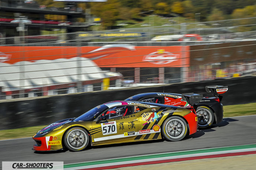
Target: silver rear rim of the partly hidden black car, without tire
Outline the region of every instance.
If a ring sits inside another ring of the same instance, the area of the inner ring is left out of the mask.
[[[196,111],[199,126],[208,126],[213,117],[208,109],[200,108]]]

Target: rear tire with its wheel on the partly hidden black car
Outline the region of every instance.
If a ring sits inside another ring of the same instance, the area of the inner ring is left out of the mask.
[[[210,127],[214,121],[213,111],[207,106],[197,107],[196,114],[198,117],[198,127],[200,129],[205,129]]]

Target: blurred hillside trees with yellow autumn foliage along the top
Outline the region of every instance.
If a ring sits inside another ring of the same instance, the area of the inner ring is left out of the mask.
[[[63,2],[36,0],[47,7],[63,7]],[[91,14],[101,18],[101,29],[118,23],[149,23],[145,17],[157,14],[163,17],[181,16],[188,20],[217,21],[256,16],[256,0],[108,0],[107,2],[76,3],[76,7],[91,9]],[[53,17],[53,16],[47,16]],[[78,19],[84,21],[84,18]],[[249,24],[249,23],[243,23]],[[131,26],[132,27],[132,26]]]

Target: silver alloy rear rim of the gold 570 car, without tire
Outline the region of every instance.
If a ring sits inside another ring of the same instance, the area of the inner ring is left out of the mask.
[[[186,131],[184,123],[179,119],[169,120],[165,125],[165,129],[167,135],[174,139],[181,137]]]

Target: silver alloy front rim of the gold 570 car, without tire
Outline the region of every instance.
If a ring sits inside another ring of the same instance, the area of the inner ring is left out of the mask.
[[[81,129],[73,129],[67,136],[67,143],[73,149],[81,149],[85,146],[88,140],[85,132]]]

